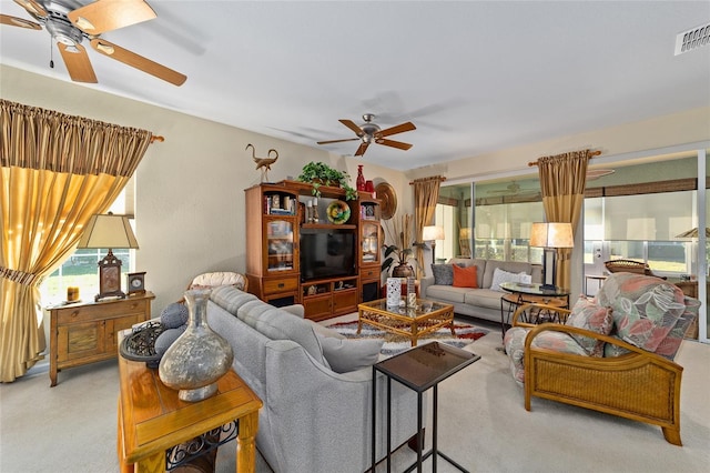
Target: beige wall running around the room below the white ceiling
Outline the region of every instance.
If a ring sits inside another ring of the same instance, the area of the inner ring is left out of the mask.
[[[180,93],[175,88],[174,93]],[[78,114],[165,137],[152,144],[136,174],[136,271],[146,271],[146,286],[160,311],[180,298],[194,274],[243,272],[244,189],[260,182],[247,143],[257,155],[278,150],[272,181],[298,175],[308,161],[324,161],[354,178],[354,159],[290,143],[179,112],[98,92],[63,80],[0,64],[0,95],[6,100]],[[475,158],[402,173],[365,163],[367,179],[389,182],[400,212],[412,211],[410,179],[442,174],[475,178],[519,171],[540,155],[594,148],[605,155],[710,140],[710,109],[691,110],[612,129],[548,140]]]

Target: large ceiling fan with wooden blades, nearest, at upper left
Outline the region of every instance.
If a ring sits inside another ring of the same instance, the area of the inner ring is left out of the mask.
[[[98,0],[87,6],[78,0],[14,2],[39,23],[8,14],[0,14],[0,23],[32,30],[41,30],[43,26],[57,42],[69,76],[75,82],[98,82],[89,54],[81,46],[84,39],[95,51],[174,85],[182,85],[187,79],[180,72],[101,38],[106,31],[154,19],[155,12],[143,0]]]

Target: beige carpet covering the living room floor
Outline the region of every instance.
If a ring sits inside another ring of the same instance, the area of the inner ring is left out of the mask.
[[[484,326],[491,332],[465,349],[481,360],[439,386],[439,447],[471,472],[707,471],[710,345],[686,341],[679,351],[686,371],[684,446],[678,447],[659,427],[578,407],[534,400],[532,411],[525,411],[507,358],[496,350],[500,332],[495,324]],[[115,362],[65,370],[51,389],[47,365],[31,372],[0,384],[0,472],[116,472]],[[217,472],[234,472],[234,451],[233,444],[220,449]],[[406,447],[396,452],[394,471],[415,456]],[[430,470],[429,462],[425,471]],[[438,470],[455,471],[442,460]],[[257,472],[271,472],[262,459]]]

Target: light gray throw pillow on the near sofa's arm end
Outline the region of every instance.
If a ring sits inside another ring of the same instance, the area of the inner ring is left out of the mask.
[[[351,340],[335,336],[321,336],[323,356],[336,373],[347,373],[362,368],[372,366],[379,360],[384,340]]]

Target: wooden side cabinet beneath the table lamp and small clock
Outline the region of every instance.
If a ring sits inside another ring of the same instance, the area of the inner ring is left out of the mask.
[[[49,378],[64,368],[115,358],[116,334],[151,318],[152,292],[100,302],[78,302],[48,308],[50,312]]]

